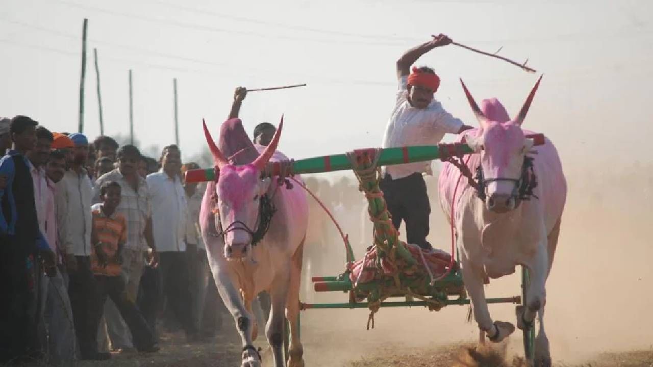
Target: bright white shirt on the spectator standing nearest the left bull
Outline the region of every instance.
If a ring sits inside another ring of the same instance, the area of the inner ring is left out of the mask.
[[[152,230],[157,251],[186,251],[188,207],[179,176],[174,180],[163,170],[148,174]]]

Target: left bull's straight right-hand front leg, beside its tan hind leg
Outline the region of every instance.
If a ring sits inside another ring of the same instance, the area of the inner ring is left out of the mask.
[[[284,309],[288,295],[288,284],[290,281],[291,264],[278,264],[279,272],[272,281],[270,287],[270,317],[266,326],[266,336],[272,354],[274,355],[274,367],[283,367],[283,324],[285,323]]]

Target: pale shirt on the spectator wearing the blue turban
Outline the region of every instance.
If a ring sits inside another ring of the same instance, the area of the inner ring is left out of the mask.
[[[57,226],[61,249],[76,256],[91,255],[93,188],[86,170],[67,170],[57,182]]]

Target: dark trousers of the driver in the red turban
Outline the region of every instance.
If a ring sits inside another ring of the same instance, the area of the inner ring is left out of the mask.
[[[431,206],[422,174],[414,173],[398,180],[392,180],[386,174],[379,185],[392,215],[394,228],[399,229],[402,221],[406,222],[407,242],[431,249],[431,244],[426,241]]]

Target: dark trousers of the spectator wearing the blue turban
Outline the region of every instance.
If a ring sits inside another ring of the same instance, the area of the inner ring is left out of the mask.
[[[91,272],[88,256],[76,256],[77,270],[69,272],[68,295],[71,297],[72,320],[82,358],[97,353],[97,323],[95,317],[104,310],[97,301],[97,281]]]

